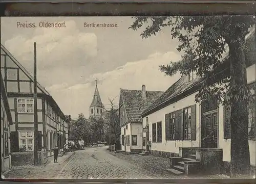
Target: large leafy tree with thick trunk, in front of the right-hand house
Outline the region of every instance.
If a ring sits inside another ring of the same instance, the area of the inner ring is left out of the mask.
[[[184,55],[178,62],[161,65],[166,75],[191,71],[202,78],[196,101],[214,96],[219,103],[230,105],[231,173],[246,174],[250,170],[247,104],[252,95],[247,87],[246,35],[255,28],[254,16],[148,16],[133,17],[130,29],[142,29],[141,37],[157,35],[169,27],[170,38],[178,39],[178,51]],[[254,43],[255,46],[255,43]],[[223,58],[227,52],[227,57]],[[228,58],[228,65],[222,65]],[[255,61],[254,61],[255,63]],[[219,77],[218,69],[228,66],[229,73]],[[218,80],[216,80],[218,78]],[[226,98],[226,96],[229,98]],[[229,100],[227,100],[229,99]]]

